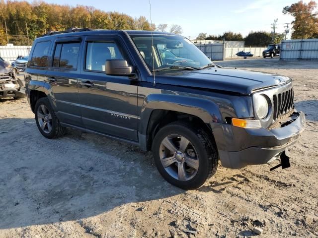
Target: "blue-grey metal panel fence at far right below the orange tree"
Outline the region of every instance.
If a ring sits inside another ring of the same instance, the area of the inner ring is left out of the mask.
[[[318,39],[284,40],[279,58],[281,60],[318,60]]]

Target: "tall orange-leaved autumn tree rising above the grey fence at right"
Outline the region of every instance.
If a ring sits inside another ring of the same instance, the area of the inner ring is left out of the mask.
[[[309,3],[299,1],[283,8],[284,14],[291,14],[295,17],[292,22],[294,29],[292,39],[313,38],[318,34],[316,7],[317,3],[311,0]]]

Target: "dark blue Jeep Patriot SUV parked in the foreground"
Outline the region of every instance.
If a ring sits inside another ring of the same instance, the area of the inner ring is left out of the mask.
[[[70,31],[37,38],[24,73],[44,137],[72,127],[152,150],[162,177],[183,189],[200,187],[219,160],[290,166],[287,148],[305,128],[290,78],[218,67],[179,35]],[[162,47],[188,60],[166,62]]]

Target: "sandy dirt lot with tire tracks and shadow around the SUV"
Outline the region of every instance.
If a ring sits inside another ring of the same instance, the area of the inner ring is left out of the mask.
[[[220,166],[183,191],[151,153],[76,130],[45,139],[26,100],[0,100],[0,238],[318,237],[318,62],[219,63],[294,79],[308,121],[291,168]]]

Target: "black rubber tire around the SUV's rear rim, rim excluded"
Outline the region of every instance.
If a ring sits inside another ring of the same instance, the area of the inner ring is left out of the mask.
[[[51,124],[52,124],[52,129],[51,129],[51,131],[48,132],[48,133],[45,132],[45,131],[41,128],[41,126],[40,126],[40,124],[39,124],[39,120],[38,120],[38,109],[39,109],[39,107],[40,107],[41,105],[44,105],[44,106],[48,109],[48,111],[49,111],[49,113],[50,113],[50,115],[51,115],[51,118],[52,118],[52,123],[51,123]],[[36,102],[35,107],[34,107],[34,116],[35,116],[36,125],[38,126],[39,131],[41,132],[41,134],[42,134],[44,137],[46,137],[46,138],[48,138],[48,139],[54,139],[54,138],[58,138],[58,137],[64,135],[66,128],[60,124],[60,121],[59,121],[59,119],[56,117],[56,115],[55,115],[55,113],[54,113],[54,111],[53,111],[53,109],[52,109],[52,107],[51,107],[51,104],[50,104],[50,102],[49,102],[49,99],[48,99],[47,97],[40,98],[40,99]]]

